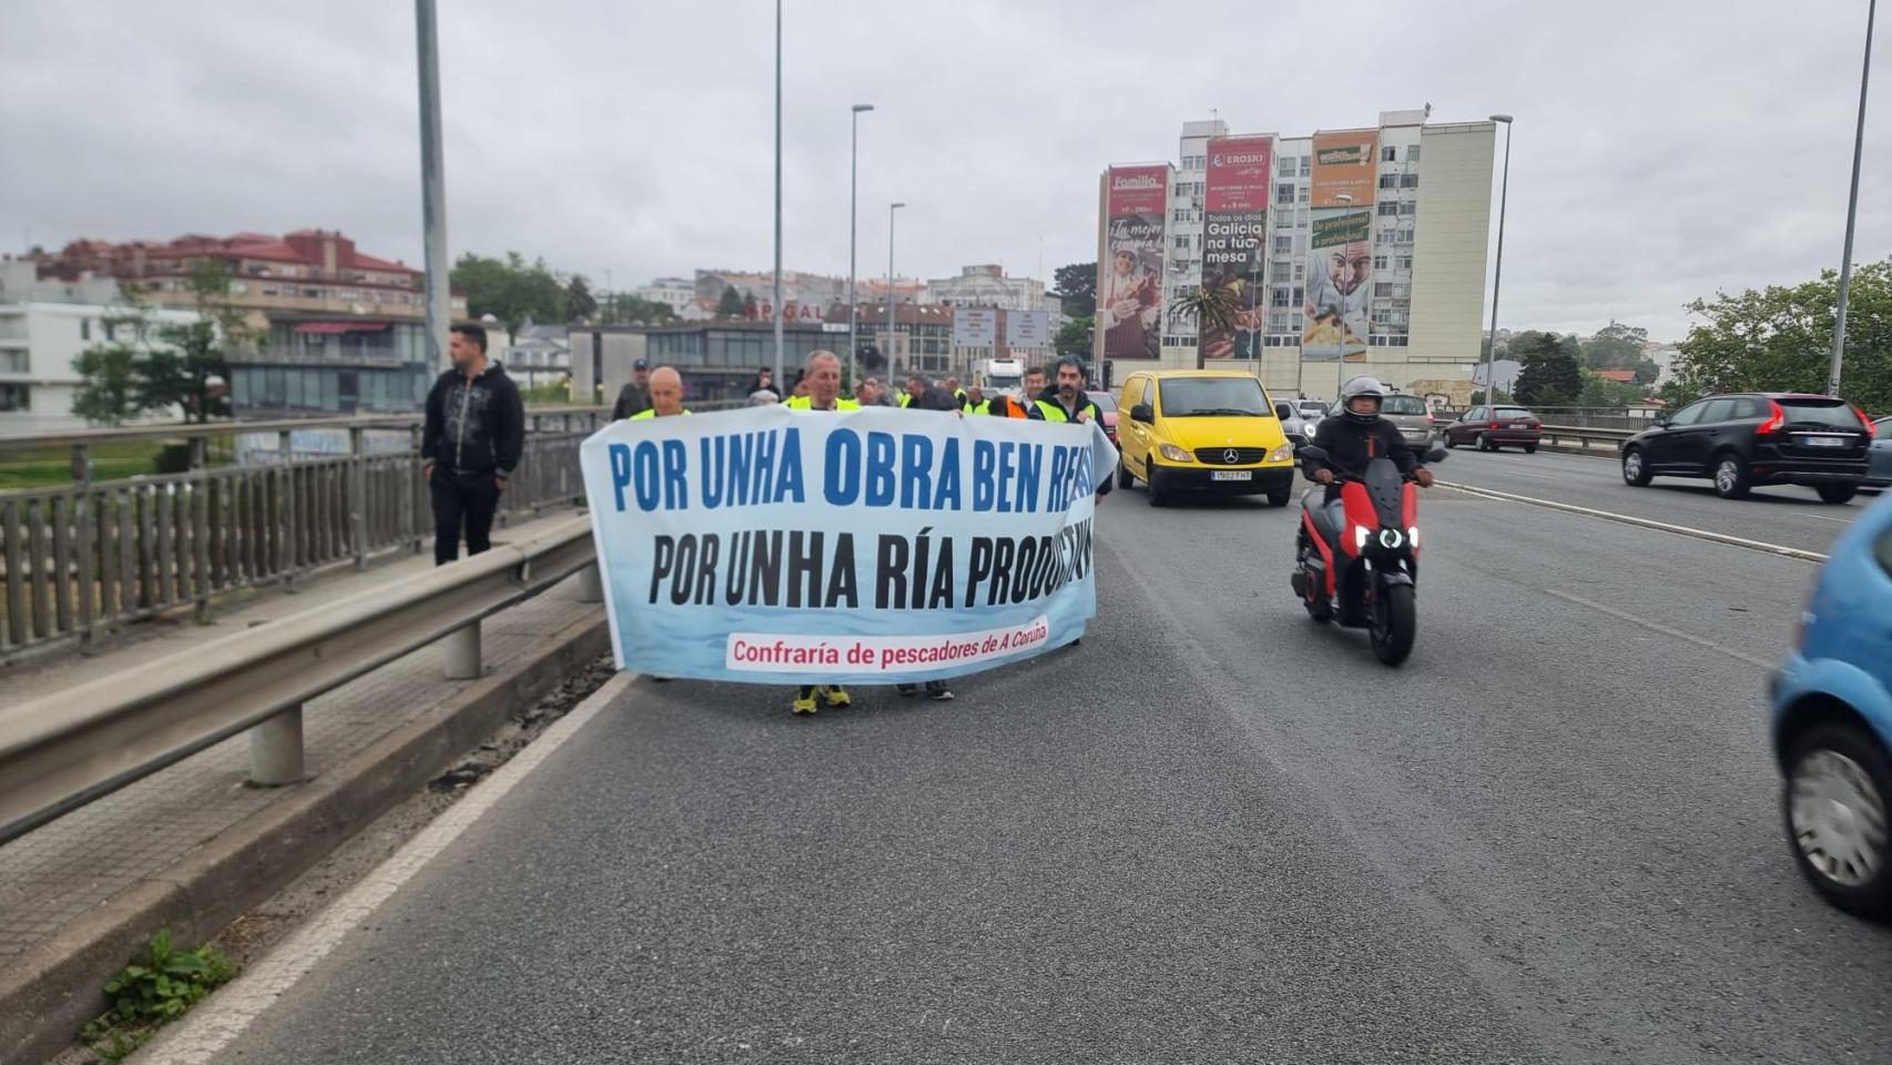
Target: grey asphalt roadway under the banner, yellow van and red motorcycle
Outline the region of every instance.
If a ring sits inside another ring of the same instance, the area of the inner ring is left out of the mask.
[[[1394,672],[1292,520],[1114,494],[954,704],[639,681],[221,1059],[1884,1059],[1765,751],[1813,566],[1436,490]]]

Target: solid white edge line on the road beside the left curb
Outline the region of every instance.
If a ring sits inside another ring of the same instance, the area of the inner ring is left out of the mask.
[[[392,899],[401,885],[458,840],[462,832],[471,829],[488,810],[498,806],[499,800],[518,787],[518,781],[539,768],[539,762],[552,757],[558,747],[577,736],[634,679],[638,679],[636,673],[619,673],[605,681],[602,689],[592,692],[571,713],[558,719],[543,736],[515,755],[513,760],[467,791],[460,802],[452,804],[431,825],[422,829],[394,857],[380,863],[375,872],[350,887],[322,914],[276,946],[276,950],[269,952],[259,965],[185,1014],[182,1021],[165,1029],[138,1054],[138,1061],[142,1065],[204,1065],[221,1054],[255,1018],[327,957],[356,925]]]

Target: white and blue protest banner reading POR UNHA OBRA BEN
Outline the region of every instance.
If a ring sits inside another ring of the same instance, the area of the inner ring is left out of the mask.
[[[931,681],[1097,613],[1094,424],[768,405],[613,422],[579,462],[621,670]]]

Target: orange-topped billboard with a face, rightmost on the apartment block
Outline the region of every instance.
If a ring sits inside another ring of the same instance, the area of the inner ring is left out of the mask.
[[[1302,359],[1366,361],[1379,131],[1313,134]]]

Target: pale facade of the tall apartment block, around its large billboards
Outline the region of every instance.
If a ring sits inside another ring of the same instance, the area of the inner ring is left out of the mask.
[[[1275,138],[1260,375],[1273,392],[1332,397],[1340,378],[1368,373],[1463,403],[1480,356],[1497,123],[1432,123],[1427,110],[1410,110],[1381,112],[1377,131],[1372,335],[1364,359],[1340,363],[1300,359],[1305,278],[1319,269],[1307,263],[1313,136]],[[1209,138],[1228,134],[1220,119],[1182,123],[1169,189],[1162,365],[1196,365],[1196,323],[1167,308],[1201,284]],[[1133,367],[1114,367],[1114,376]]]

